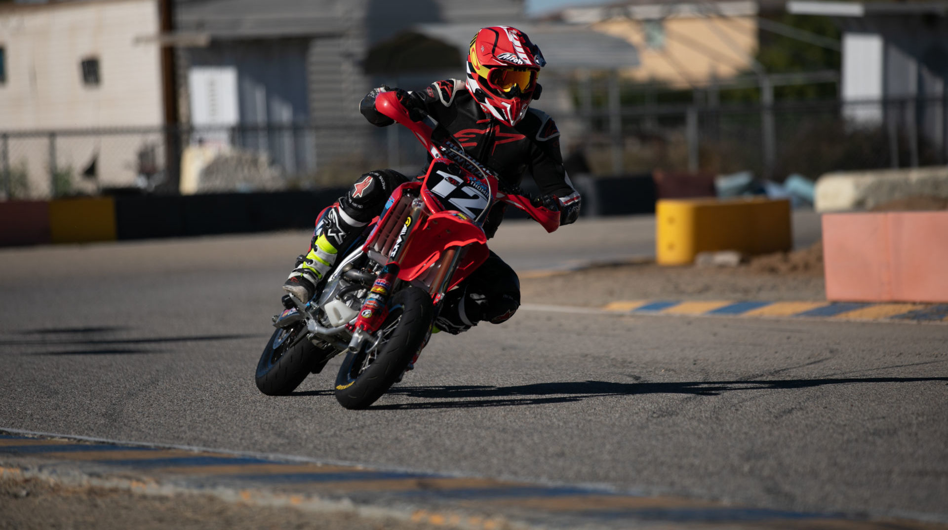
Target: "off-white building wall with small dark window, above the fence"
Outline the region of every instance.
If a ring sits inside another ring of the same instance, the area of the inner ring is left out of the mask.
[[[160,125],[161,72],[155,0],[101,0],[0,8],[7,82],[0,129]],[[100,85],[80,63],[99,58]]]

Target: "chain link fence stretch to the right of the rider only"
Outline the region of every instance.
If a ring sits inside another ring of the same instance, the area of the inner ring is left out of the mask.
[[[586,135],[564,146],[593,174],[655,169],[781,181],[832,171],[948,162],[948,104],[941,99],[785,101],[773,105],[655,105],[582,117]]]

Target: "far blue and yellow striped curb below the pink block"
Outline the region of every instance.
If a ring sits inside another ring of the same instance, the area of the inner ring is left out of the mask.
[[[644,300],[611,302],[603,309],[636,315],[948,322],[948,303]]]

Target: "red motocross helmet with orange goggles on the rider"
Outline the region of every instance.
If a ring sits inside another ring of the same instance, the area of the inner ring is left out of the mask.
[[[483,111],[513,127],[527,113],[546,64],[537,45],[516,27],[483,27],[467,53],[467,90]]]

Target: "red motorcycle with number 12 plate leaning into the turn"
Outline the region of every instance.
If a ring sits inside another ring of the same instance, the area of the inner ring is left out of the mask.
[[[414,367],[445,293],[487,259],[482,227],[491,207],[502,201],[548,232],[559,228],[558,211],[501,189],[488,168],[435,134],[427,114],[409,111],[393,92],[380,94],[375,108],[425,145],[428,172],[392,192],[312,300],[288,297],[291,307],[273,318],[277,330],[257,365],[257,387],[267,395],[293,392],[344,353],[336,398],[347,409],[369,407]]]

